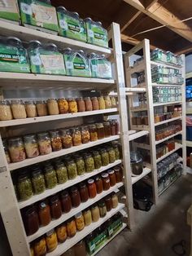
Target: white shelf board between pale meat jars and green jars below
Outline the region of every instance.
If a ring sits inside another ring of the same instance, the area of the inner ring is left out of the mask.
[[[62,156],[68,155],[72,152],[77,152],[77,151],[80,151],[80,150],[83,150],[83,149],[86,149],[86,148],[91,148],[91,147],[94,147],[94,146],[98,146],[100,144],[111,142],[111,141],[116,140],[116,139],[120,139],[120,135],[110,136],[110,137],[105,138],[105,139],[98,139],[96,141],[81,144],[79,146],[72,147],[72,148],[64,148],[64,149],[61,149],[57,152],[51,152],[50,154],[47,154],[47,155],[44,155],[44,156],[28,158],[28,159],[25,159],[24,161],[9,164],[9,170],[16,170],[16,169],[19,169],[19,168],[22,168],[22,167],[25,167],[25,166],[31,166],[31,165],[37,164],[41,161],[47,161],[47,160],[53,159],[55,157],[62,157]]]

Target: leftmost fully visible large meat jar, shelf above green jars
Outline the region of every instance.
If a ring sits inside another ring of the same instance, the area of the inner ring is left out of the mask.
[[[26,159],[24,151],[24,143],[21,138],[13,138],[8,140],[8,149],[12,162],[23,161]]]

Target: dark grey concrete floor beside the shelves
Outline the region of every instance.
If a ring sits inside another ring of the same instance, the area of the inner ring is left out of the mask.
[[[190,255],[190,227],[186,211],[192,203],[192,175],[182,176],[159,197],[159,205],[150,212],[135,210],[137,227],[126,228],[105,246],[98,256],[175,256],[172,245],[186,241]]]

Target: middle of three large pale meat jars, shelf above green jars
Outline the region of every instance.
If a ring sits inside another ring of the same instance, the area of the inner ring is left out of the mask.
[[[39,148],[37,144],[36,135],[24,136],[24,148],[28,158],[39,156]]]

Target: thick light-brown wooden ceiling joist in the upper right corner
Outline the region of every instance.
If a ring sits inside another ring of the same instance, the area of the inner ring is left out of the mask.
[[[124,0],[124,2],[129,3],[130,6],[135,7],[138,11],[142,11],[153,20],[164,24],[168,29],[179,34],[182,38],[192,42],[192,30],[190,27],[184,22],[181,22],[176,15],[173,15],[172,12],[161,6],[157,1]]]

